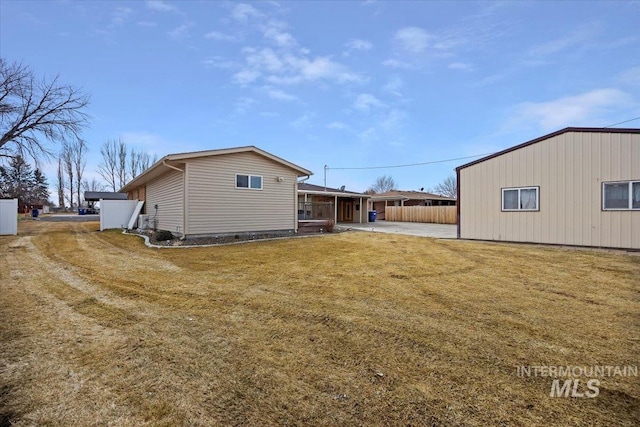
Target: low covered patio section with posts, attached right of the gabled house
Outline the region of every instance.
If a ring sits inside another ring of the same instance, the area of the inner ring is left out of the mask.
[[[369,222],[366,210],[368,194],[298,184],[298,219],[300,221],[333,220],[334,222]]]

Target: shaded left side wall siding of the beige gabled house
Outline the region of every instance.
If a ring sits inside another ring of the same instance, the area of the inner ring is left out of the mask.
[[[168,169],[168,168],[167,168]],[[146,212],[154,215],[158,205],[157,228],[172,233],[184,233],[184,177],[182,172],[168,172],[147,184]]]

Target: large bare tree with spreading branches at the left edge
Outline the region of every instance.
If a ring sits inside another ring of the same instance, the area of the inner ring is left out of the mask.
[[[51,154],[43,140],[79,139],[88,104],[88,95],[61,85],[58,77],[37,80],[27,66],[0,58],[0,157],[38,159]]]

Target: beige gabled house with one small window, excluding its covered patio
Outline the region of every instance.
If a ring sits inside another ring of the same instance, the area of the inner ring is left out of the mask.
[[[254,146],[170,154],[120,192],[183,237],[298,229],[297,183],[311,172]]]

